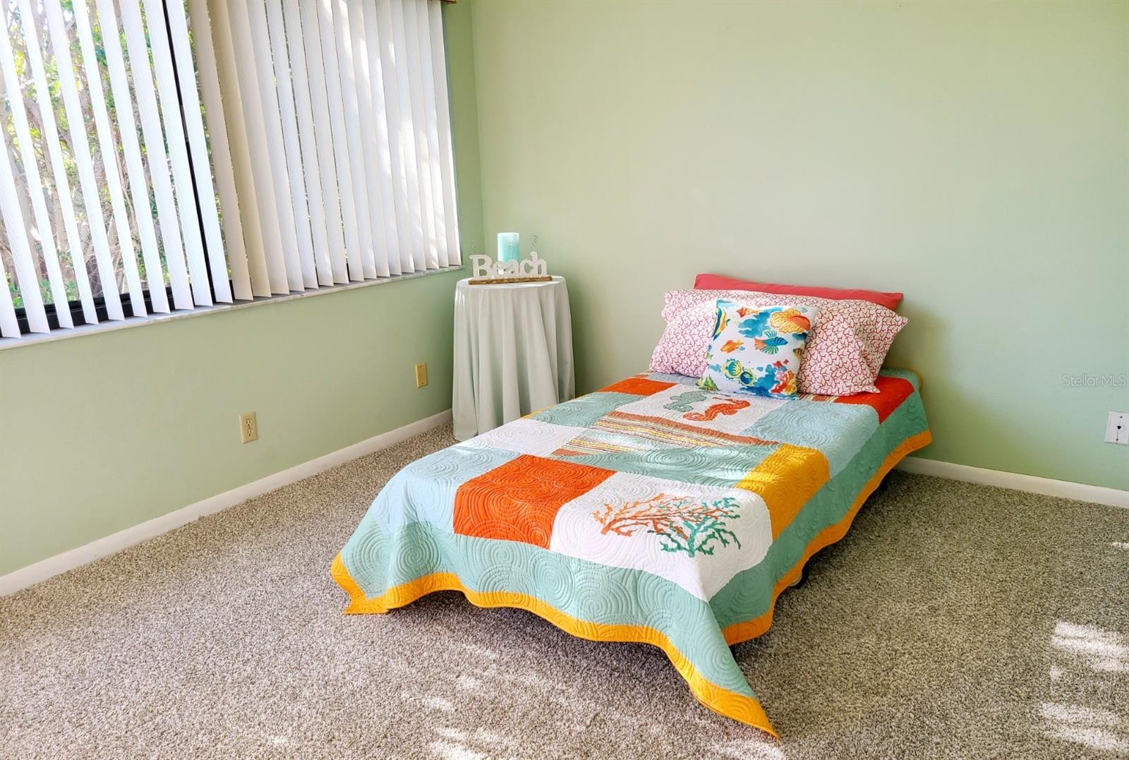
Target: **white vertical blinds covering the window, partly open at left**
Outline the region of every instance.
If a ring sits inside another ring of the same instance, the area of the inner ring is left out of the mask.
[[[460,263],[437,0],[0,9],[0,335]]]

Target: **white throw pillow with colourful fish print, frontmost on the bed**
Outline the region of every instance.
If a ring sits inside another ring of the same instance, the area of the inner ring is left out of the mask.
[[[800,355],[819,316],[814,306],[754,307],[719,299],[698,385],[723,393],[795,396]]]

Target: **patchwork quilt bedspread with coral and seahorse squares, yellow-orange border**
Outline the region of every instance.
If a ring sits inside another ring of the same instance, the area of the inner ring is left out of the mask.
[[[404,468],[333,561],[348,613],[434,591],[662,648],[710,709],[776,734],[728,645],[929,443],[909,372],[778,400],[641,374]]]

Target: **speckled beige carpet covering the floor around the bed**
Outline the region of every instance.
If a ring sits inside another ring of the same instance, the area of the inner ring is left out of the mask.
[[[441,428],[0,600],[2,758],[1129,754],[1129,510],[901,473],[736,656],[779,743],[658,650],[329,575]]]

